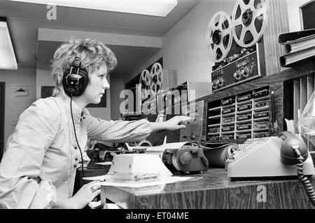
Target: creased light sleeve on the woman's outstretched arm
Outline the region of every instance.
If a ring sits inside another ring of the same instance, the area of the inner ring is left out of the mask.
[[[87,137],[108,142],[134,142],[144,140],[152,133],[151,123],[139,121],[105,121],[87,115]]]

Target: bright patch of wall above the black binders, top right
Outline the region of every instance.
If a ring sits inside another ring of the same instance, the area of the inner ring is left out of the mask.
[[[302,20],[300,20],[300,6],[307,4],[309,1],[312,0],[287,0],[290,32],[297,32],[302,30]]]

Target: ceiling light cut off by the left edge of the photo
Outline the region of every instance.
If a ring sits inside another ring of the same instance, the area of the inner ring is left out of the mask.
[[[0,69],[18,69],[6,18],[0,17]]]

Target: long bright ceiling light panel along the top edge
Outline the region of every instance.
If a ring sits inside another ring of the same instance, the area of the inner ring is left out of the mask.
[[[166,16],[177,0],[10,0],[36,4],[90,8],[121,13]]]

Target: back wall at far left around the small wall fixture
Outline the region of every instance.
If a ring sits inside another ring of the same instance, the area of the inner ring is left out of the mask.
[[[0,81],[6,82],[5,112],[4,112],[4,146],[8,136],[13,133],[20,114],[36,100],[36,69],[19,68],[18,70],[0,70]],[[29,86],[27,97],[14,97],[16,88],[12,85]]]

